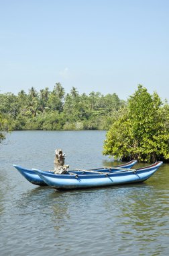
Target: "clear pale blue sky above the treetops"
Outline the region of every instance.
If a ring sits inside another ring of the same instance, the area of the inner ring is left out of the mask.
[[[0,0],[0,93],[34,86],[169,100],[168,0]]]

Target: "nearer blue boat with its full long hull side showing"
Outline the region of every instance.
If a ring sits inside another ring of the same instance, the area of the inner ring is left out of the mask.
[[[115,172],[113,172],[113,168],[111,172],[107,170],[84,170],[68,174],[54,174],[37,169],[33,170],[53,189],[87,189],[146,181],[158,170],[162,163],[156,162],[150,166],[138,169],[115,168]]]

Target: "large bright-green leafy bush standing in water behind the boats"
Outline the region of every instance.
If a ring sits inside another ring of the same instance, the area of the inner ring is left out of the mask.
[[[144,162],[169,160],[169,108],[139,85],[107,132],[103,154]]]

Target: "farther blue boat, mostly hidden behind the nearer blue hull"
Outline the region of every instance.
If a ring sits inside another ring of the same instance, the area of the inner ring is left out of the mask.
[[[133,167],[135,164],[137,164],[137,160],[132,160],[130,162],[127,162],[125,164],[120,164],[118,166],[115,167],[119,167],[119,168],[131,168]],[[21,166],[18,166],[16,164],[13,164],[13,166],[21,173],[21,175],[23,175],[23,177],[25,177],[25,179],[27,179],[27,181],[30,181],[30,183],[34,184],[34,185],[38,185],[38,186],[46,186],[47,184],[41,179],[41,177],[39,177],[38,174],[36,174],[36,172],[34,172],[34,170],[32,169],[27,169],[27,168],[23,168]],[[92,170],[92,169],[91,169]],[[103,171],[115,171],[115,169],[112,170],[112,168],[96,168],[93,169],[96,170],[98,172],[103,172]],[[46,171],[47,173],[49,171]],[[73,172],[72,170],[69,171],[69,173]],[[50,172],[50,173],[54,173],[54,172]]]

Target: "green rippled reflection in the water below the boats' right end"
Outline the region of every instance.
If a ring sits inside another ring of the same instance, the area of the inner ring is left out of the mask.
[[[154,197],[154,193],[156,193],[156,197]],[[119,197],[120,203],[117,197]],[[113,200],[113,203],[115,209],[118,209],[117,212],[121,214],[113,213],[113,216],[116,217],[113,222],[113,231],[110,232],[112,238],[115,236],[114,230],[118,230],[121,239],[127,241],[128,245],[132,247],[130,239],[132,237],[135,253],[144,250],[148,252],[148,255],[156,255],[154,253],[159,255],[166,250],[165,245],[159,244],[161,235],[158,228],[166,228],[167,219],[164,216],[168,213],[168,208],[166,208],[168,201],[164,203],[163,207],[158,197],[158,191],[155,191],[153,186],[143,183],[139,187],[129,186],[117,189],[116,199]],[[111,204],[107,203],[105,207],[108,207],[110,212]],[[156,212],[154,207],[156,207]],[[164,234],[164,236],[167,238],[168,234]],[[126,251],[123,245],[119,247],[121,252]]]

